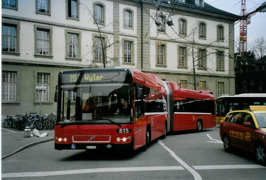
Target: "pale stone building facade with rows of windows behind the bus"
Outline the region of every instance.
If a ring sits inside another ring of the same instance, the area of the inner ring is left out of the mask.
[[[158,5],[151,0],[3,0],[2,115],[39,112],[40,98],[42,113],[55,113],[61,70],[104,65],[155,73],[189,89],[195,74],[196,89],[216,97],[234,95],[239,16],[202,0]],[[40,96],[36,86],[46,91]]]

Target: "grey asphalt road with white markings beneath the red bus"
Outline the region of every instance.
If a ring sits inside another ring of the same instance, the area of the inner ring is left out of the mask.
[[[266,179],[266,167],[238,149],[226,153],[219,127],[170,134],[146,152],[54,150],[38,144],[2,159],[5,179]]]

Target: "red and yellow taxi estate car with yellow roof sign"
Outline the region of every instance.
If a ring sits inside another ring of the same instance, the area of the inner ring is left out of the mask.
[[[226,152],[238,147],[254,152],[257,161],[266,166],[266,106],[231,111],[220,125],[220,137]]]

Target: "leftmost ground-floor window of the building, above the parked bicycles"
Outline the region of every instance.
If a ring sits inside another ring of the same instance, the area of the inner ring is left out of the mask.
[[[17,73],[2,71],[2,101],[16,101]]]

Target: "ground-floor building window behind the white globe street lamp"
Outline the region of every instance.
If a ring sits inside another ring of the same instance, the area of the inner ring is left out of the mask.
[[[40,101],[40,94],[41,101],[49,101],[49,76],[49,73],[37,73],[37,86],[46,87],[45,92],[37,91],[37,101]]]

